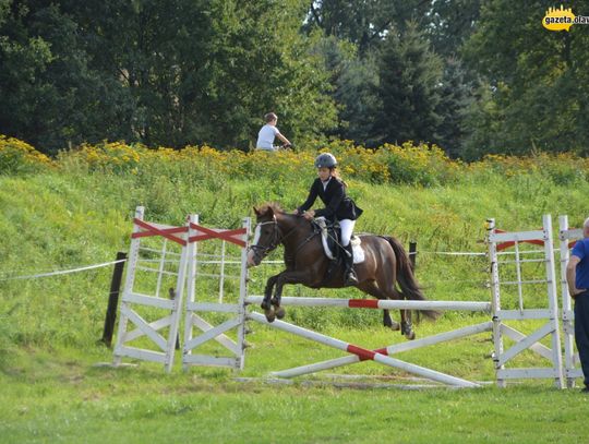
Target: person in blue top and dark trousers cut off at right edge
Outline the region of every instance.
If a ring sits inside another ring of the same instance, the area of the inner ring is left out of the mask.
[[[589,218],[582,225],[584,239],[577,241],[566,266],[568,292],[575,300],[575,343],[589,392]]]

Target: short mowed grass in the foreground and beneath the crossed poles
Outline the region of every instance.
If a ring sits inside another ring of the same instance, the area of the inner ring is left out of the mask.
[[[447,329],[424,324],[418,332]],[[430,332],[431,331],[431,332]],[[327,332],[368,346],[404,340],[372,326]],[[341,356],[304,339],[257,327],[241,374],[160,365],[96,365],[111,360],[104,346],[87,350],[20,350],[4,356],[0,374],[2,443],[582,443],[589,441],[589,396],[552,382],[507,388],[408,389],[407,374],[363,362],[341,375],[291,384],[265,381],[271,370]],[[483,335],[399,359],[474,380],[493,377]],[[444,359],[446,357],[446,359]],[[178,357],[177,357],[178,358]],[[252,377],[239,382],[237,376]],[[473,377],[472,377],[473,376]],[[334,383],[338,382],[338,383]],[[369,387],[369,383],[372,387]],[[424,382],[417,382],[423,385]],[[354,388],[346,385],[356,385]]]

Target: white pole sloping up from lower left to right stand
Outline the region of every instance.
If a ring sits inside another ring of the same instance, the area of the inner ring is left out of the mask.
[[[493,322],[484,322],[482,324],[469,325],[464,328],[454,329],[452,332],[440,333],[437,335],[428,336],[422,339],[416,339],[408,343],[395,344],[386,348],[374,350],[382,355],[394,355],[401,351],[413,350],[421,347],[428,347],[435,344],[444,343],[447,340],[458,339],[466,336],[476,335],[483,332],[491,332],[493,329]],[[303,374],[316,373],[324,370],[336,369],[338,367],[349,365],[357,362],[361,362],[358,355],[345,356],[342,358],[329,359],[327,361],[316,362],[309,365],[296,367],[288,370],[281,370],[278,372],[272,372],[271,374],[276,377],[296,377]]]

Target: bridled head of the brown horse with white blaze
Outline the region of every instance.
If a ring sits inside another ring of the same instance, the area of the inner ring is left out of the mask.
[[[262,260],[280,244],[280,228],[276,214],[281,209],[274,204],[254,207],[256,226],[254,239],[248,252],[248,266],[257,266]]]

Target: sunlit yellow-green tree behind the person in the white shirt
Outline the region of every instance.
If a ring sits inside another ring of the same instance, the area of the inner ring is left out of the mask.
[[[299,32],[304,14],[299,0],[218,1],[209,109],[213,125],[223,128],[223,145],[255,142],[271,110],[296,143],[335,127],[328,73],[313,51],[315,36]]]

